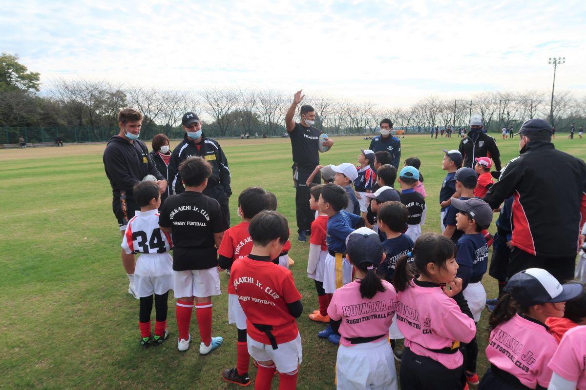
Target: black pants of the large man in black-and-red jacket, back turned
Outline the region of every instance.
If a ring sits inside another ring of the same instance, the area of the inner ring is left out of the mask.
[[[564,257],[533,256],[526,251],[513,248],[509,259],[508,277],[527,268],[543,268],[554,275],[560,283],[574,279],[576,255]]]

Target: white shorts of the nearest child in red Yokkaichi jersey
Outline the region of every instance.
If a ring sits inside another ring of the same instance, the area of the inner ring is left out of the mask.
[[[257,361],[272,360],[277,366],[277,371],[287,374],[294,372],[301,365],[302,348],[301,348],[301,334],[297,334],[294,340],[288,343],[277,344],[277,349],[274,350],[271,344],[263,344],[250,338],[246,334],[246,341],[248,342],[248,354]]]

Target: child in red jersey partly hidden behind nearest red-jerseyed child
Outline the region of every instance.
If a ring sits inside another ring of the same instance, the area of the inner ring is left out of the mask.
[[[220,267],[230,270],[234,261],[247,257],[253,249],[253,240],[248,233],[250,220],[268,207],[267,192],[260,187],[249,187],[238,196],[238,215],[242,222],[224,232],[224,238],[218,250],[218,264]],[[236,343],[237,366],[222,372],[224,381],[237,385],[250,384],[248,377],[248,365],[250,355],[246,343],[246,315],[240,306],[236,289],[228,284],[228,323],[236,324],[238,341]]]

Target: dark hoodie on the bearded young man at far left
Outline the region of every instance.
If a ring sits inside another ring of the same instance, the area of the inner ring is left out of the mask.
[[[132,188],[146,175],[153,175],[157,180],[165,178],[156,169],[149,156],[147,145],[141,140],[130,143],[120,136],[113,136],[104,150],[104,169],[112,186],[112,195],[120,197],[120,191],[132,199]]]

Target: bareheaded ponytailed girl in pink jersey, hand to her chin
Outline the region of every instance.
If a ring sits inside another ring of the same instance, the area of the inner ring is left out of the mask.
[[[466,381],[459,341],[469,343],[476,326],[452,299],[462,289],[462,279],[456,278],[456,247],[447,237],[425,233],[411,254],[418,277],[407,265],[409,254],[397,262],[393,276],[399,291],[397,324],[405,336],[401,388],[462,390]]]

